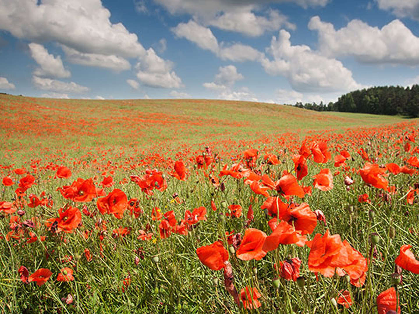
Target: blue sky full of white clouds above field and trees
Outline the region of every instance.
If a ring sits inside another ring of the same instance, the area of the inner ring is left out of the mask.
[[[328,103],[419,84],[419,0],[0,0],[0,92]]]

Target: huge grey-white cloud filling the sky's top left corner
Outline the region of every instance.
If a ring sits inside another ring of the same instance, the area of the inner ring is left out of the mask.
[[[145,49],[100,0],[0,0],[0,29],[19,39],[57,41],[85,53],[138,57]]]

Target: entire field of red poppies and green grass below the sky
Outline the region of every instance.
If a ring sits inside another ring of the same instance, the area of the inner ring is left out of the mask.
[[[0,95],[7,313],[419,312],[419,120]]]

